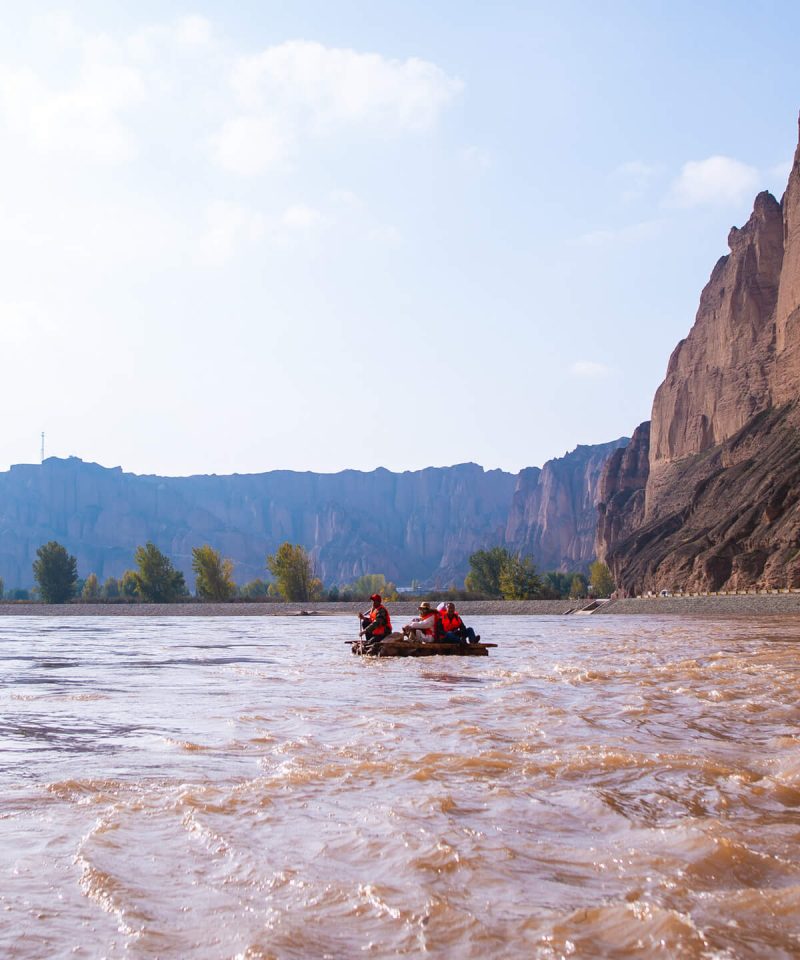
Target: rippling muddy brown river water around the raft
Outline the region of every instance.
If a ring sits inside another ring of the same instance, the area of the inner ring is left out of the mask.
[[[800,957],[800,619],[0,620],[0,957]]]

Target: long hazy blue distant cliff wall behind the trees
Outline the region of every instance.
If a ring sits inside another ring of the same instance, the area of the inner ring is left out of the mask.
[[[547,531],[542,537],[533,521],[527,523],[515,532],[515,548],[538,559],[541,543],[558,542],[572,569],[585,565],[585,530],[594,528],[596,513],[591,494],[571,494],[566,509],[561,493],[570,484],[582,489],[582,470],[599,474],[607,455],[602,451],[611,446],[579,448],[574,476],[559,467],[560,481],[544,500],[541,491],[530,491],[535,510],[518,489],[518,477],[476,464],[401,474],[170,478],[51,458],[0,473],[0,577],[7,587],[31,584],[36,550],[48,540],[75,554],[81,576],[119,577],[133,566],[136,546],[152,540],[189,583],[192,547],[204,543],[232,558],[236,580],[244,583],[265,576],[266,555],[289,540],[312,553],[326,583],[380,572],[400,584],[416,579],[445,587],[463,582],[475,550],[506,543],[512,509],[535,514]]]

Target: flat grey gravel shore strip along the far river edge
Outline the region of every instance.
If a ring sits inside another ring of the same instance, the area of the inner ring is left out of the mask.
[[[585,606],[585,600],[462,600],[462,616],[563,616]],[[387,604],[399,624],[417,612],[417,603]],[[369,601],[348,603],[2,603],[0,616],[44,617],[286,617],[307,615],[354,616]],[[800,613],[800,593],[739,594],[714,597],[643,597],[612,600],[597,614],[674,616],[775,616]]]

